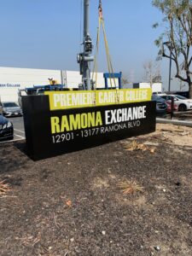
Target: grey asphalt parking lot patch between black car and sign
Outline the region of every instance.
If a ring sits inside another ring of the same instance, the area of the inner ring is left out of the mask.
[[[25,139],[26,137],[25,137],[24,124],[23,124],[23,117],[12,117],[8,119],[14,125],[14,139],[12,140],[12,142]],[[6,142],[2,142],[2,143],[6,143]]]

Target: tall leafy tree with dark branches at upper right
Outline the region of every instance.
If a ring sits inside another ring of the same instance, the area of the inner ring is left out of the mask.
[[[192,98],[192,0],[153,0],[154,7],[164,15],[165,31],[155,41],[159,55],[176,65],[177,79],[189,84]],[[154,24],[154,28],[158,23]]]

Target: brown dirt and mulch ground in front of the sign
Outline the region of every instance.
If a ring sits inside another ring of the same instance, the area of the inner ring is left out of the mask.
[[[191,155],[173,125],[36,162],[1,144],[0,255],[192,255]]]

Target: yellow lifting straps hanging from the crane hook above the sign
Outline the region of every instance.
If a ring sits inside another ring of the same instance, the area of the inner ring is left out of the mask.
[[[115,89],[117,90],[116,82],[115,82],[115,78],[114,78],[114,73],[113,73],[113,66],[112,66],[111,56],[109,55],[108,39],[107,39],[107,36],[106,36],[105,25],[104,25],[104,20],[103,20],[103,16],[102,16],[102,0],[99,1],[99,8],[98,9],[99,9],[99,26],[97,28],[96,55],[95,55],[95,58],[94,58],[94,67],[93,67],[93,73],[92,73],[92,80],[94,78],[94,75],[96,74],[96,83],[95,83],[94,89],[96,90],[96,85],[97,85],[97,68],[98,68],[97,55],[98,55],[98,52],[99,52],[100,30],[101,30],[101,25],[102,25],[102,32],[103,32],[106,55],[107,55],[107,61],[108,61],[108,73],[109,73],[110,85],[111,85],[111,88],[112,88],[112,86],[113,86],[112,85],[112,76],[111,76],[111,74],[112,74]],[[118,99],[118,95],[117,95],[117,99]],[[119,99],[118,99],[118,101],[119,101]]]

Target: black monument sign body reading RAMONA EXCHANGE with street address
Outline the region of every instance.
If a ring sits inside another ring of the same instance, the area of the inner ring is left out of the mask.
[[[155,131],[155,102],[49,109],[49,96],[23,96],[26,146],[32,160]]]

